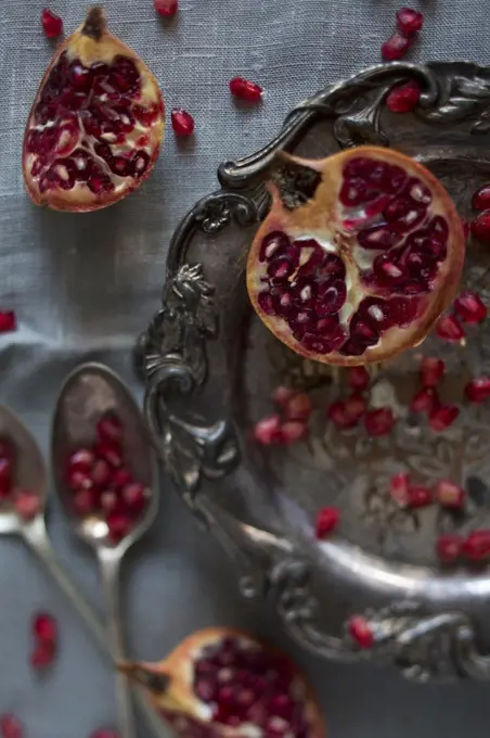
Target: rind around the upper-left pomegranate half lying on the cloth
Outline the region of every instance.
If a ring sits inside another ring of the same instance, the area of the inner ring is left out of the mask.
[[[94,12],[99,13],[98,21],[101,24],[101,35],[96,39],[86,31],[91,13]],[[34,113],[40,100],[42,89],[49,79],[52,68],[64,52],[68,54],[70,60],[79,59],[85,66],[91,66],[95,62],[111,64],[118,55],[127,56],[137,66],[141,78],[141,94],[138,103],[144,103],[146,106],[154,105],[158,110],[158,117],[145,129],[145,135],[149,139],[145,153],[150,157],[145,171],[138,179],[114,176],[115,179],[124,179],[114,191],[104,191],[95,194],[88,187],[74,187],[72,190],[52,188],[41,192],[38,179],[30,174],[33,161],[31,154],[27,151],[27,136],[34,127]],[[77,30],[57,47],[36,92],[36,98],[27,119],[23,143],[23,175],[27,193],[36,205],[47,206],[53,211],[88,213],[108,207],[126,198],[147,179],[158,158],[164,130],[165,105],[156,78],[138,54],[107,29],[105,14],[102,9],[93,8],[89,11],[87,20]]]

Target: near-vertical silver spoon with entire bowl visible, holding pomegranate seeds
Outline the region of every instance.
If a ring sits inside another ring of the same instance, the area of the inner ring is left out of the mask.
[[[131,472],[152,491],[149,504],[131,532],[120,543],[112,543],[102,517],[80,519],[69,505],[73,493],[64,470],[70,453],[94,441],[96,422],[106,413],[117,415],[124,427],[125,455]],[[52,466],[55,489],[66,517],[77,535],[95,551],[107,605],[107,636],[113,658],[124,661],[125,638],[120,615],[119,573],[124,555],[153,523],[157,508],[155,462],[143,417],[130,391],[113,371],[99,364],[85,364],[68,376],[61,390],[52,428]],[[117,704],[121,738],[133,738],[134,715],[131,687],[126,675],[117,676]]]

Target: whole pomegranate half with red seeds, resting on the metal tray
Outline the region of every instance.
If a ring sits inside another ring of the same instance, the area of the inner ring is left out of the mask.
[[[247,263],[261,320],[324,364],[381,361],[421,343],[464,264],[461,218],[439,180],[391,149],[280,156]]]

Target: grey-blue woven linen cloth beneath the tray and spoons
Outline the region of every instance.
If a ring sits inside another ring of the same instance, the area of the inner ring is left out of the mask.
[[[193,202],[217,187],[217,165],[266,143],[305,97],[377,62],[399,1],[180,0],[179,17],[168,24],[156,17],[151,0],[105,4],[113,30],[156,74],[168,109],[181,105],[195,116],[196,136],[179,145],[168,130],[150,181],[113,208],[82,216],[35,208],[24,192],[21,145],[51,56],[39,23],[44,0],[2,0],[0,306],[17,310],[21,330],[0,339],[0,397],[23,413],[44,451],[59,384],[78,361],[100,358],[131,380],[128,353],[158,306],[169,237]],[[74,0],[51,7],[67,31],[85,13]],[[420,7],[426,26],[413,60],[490,62],[486,0]],[[263,104],[234,106],[227,84],[235,74],[263,85]],[[101,602],[93,557],[53,508],[56,548]],[[162,657],[210,623],[241,624],[280,640],[270,613],[240,599],[228,560],[167,484],[162,508],[147,543],[126,568],[132,656]],[[41,608],[60,619],[62,644],[53,673],[37,680],[27,666],[28,622]],[[291,648],[319,688],[334,738],[487,738],[488,686],[420,688],[390,672],[331,665]],[[0,713],[18,714],[29,738],[85,738],[113,722],[113,684],[108,664],[40,565],[18,540],[1,539]]]

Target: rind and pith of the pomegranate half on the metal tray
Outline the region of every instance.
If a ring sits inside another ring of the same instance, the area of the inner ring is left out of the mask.
[[[449,193],[440,181],[415,160],[392,149],[358,147],[323,160],[298,158],[283,152],[280,156],[285,162],[309,167],[319,173],[322,178],[314,198],[292,211],[284,207],[275,183],[269,182],[268,184],[272,195],[272,206],[268,217],[254,238],[247,262],[247,291],[254,309],[262,322],[275,338],[295,353],[322,364],[334,364],[345,367],[383,361],[422,343],[434,328],[440,315],[451,304],[461,279],[465,257],[465,238],[461,218]],[[350,160],[358,157],[369,157],[374,161],[386,162],[390,165],[398,165],[410,177],[416,177],[429,187],[433,193],[430,215],[431,217],[441,215],[449,227],[448,254],[446,259],[440,263],[435,280],[435,289],[429,294],[422,295],[417,316],[407,328],[388,328],[383,333],[378,343],[368,347],[360,356],[344,355],[335,351],[328,354],[320,354],[301,345],[293,336],[289,326],[285,320],[267,315],[260,307],[258,302],[258,295],[262,289],[260,278],[267,269],[267,265],[263,266],[259,259],[260,247],[263,239],[274,231],[286,233],[292,241],[311,238],[322,242],[325,233],[334,232],[334,225],[336,225],[335,232],[340,240],[337,254],[343,258],[348,269],[348,275],[352,277],[352,283],[348,289],[349,295],[359,294],[361,289],[363,296],[379,294],[370,292],[365,285],[361,288],[358,268],[349,269],[349,264],[353,263],[353,257],[349,245],[343,243],[343,230],[338,222],[337,207],[343,183],[343,170]]]

